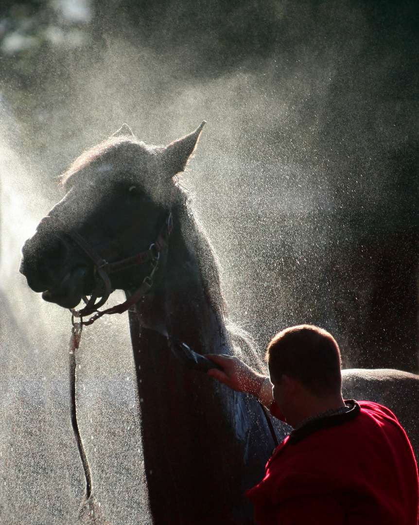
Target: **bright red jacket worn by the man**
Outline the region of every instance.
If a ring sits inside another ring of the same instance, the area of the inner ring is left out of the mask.
[[[403,428],[384,406],[354,409],[279,445],[246,493],[258,525],[417,525],[417,466]],[[284,421],[276,403],[271,413]]]

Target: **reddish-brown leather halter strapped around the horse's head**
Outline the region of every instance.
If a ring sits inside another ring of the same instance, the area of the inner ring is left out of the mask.
[[[153,285],[153,276],[156,269],[158,268],[160,252],[163,249],[164,244],[169,238],[170,233],[173,229],[173,217],[172,213],[169,213],[169,216],[160,228],[160,231],[154,243],[150,245],[150,248],[148,250],[142,251],[139,254],[132,255],[125,259],[121,259],[120,261],[107,262],[97,253],[95,249],[93,249],[90,246],[90,244],[85,238],[83,238],[78,232],[76,232],[76,230],[72,228],[67,228],[67,225],[64,222],[62,222],[61,219],[59,219],[58,217],[51,217],[50,215],[48,215],[41,220],[41,223],[45,222],[46,220],[52,220],[53,222],[58,223],[60,226],[64,227],[64,233],[68,235],[72,240],[74,240],[75,243],[77,243],[80,246],[80,248],[85,252],[85,254],[93,261],[93,264],[95,264],[94,271],[96,276],[96,286],[95,289],[92,291],[90,299],[87,299],[87,297],[84,296],[83,301],[85,301],[86,306],[80,310],[71,309],[73,324],[74,318],[79,317],[80,323],[78,324],[81,325],[92,324],[104,314],[123,313],[141,299],[141,297]],[[143,264],[143,262],[151,262],[152,270],[150,275],[144,278],[143,282],[141,283],[141,286],[134,291],[133,295],[121,304],[117,304],[116,306],[108,308],[107,310],[98,311],[98,309],[108,300],[112,292],[109,275],[120,270],[131,268],[132,266],[138,266],[140,264]],[[99,301],[96,302],[99,295],[101,295],[101,299],[99,299]],[[83,321],[81,319],[83,317],[90,316],[93,312],[96,312],[95,316],[93,316],[88,321]]]

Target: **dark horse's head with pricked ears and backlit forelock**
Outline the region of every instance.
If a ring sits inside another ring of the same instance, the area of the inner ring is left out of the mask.
[[[108,277],[109,268],[135,256],[158,257],[155,243],[169,219],[173,176],[185,169],[204,124],[166,147],[139,142],[124,124],[80,155],[61,175],[65,197],[22,248],[20,272],[29,287],[70,309],[89,295],[103,303],[112,290],[138,287],[148,265],[128,261]]]

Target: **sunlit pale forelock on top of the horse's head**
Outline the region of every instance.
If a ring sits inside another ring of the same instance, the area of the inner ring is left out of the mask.
[[[83,152],[60,175],[60,183],[65,188],[76,184],[83,175],[93,171],[121,172],[146,171],[153,163],[155,154],[163,146],[147,146],[131,137],[110,137]]]

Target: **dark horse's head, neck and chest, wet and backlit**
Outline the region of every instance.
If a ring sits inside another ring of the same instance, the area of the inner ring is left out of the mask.
[[[128,309],[154,523],[250,524],[245,490],[275,447],[268,422],[253,396],[186,367],[167,339],[260,365],[251,342],[228,327],[214,252],[176,177],[203,124],[166,147],[123,125],[79,156],[61,176],[65,197],[23,246],[20,271],[44,300],[76,315],[84,299],[81,316],[125,291],[119,311]],[[284,438],[287,425],[276,432]]]

